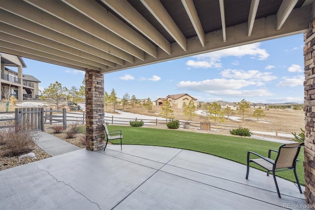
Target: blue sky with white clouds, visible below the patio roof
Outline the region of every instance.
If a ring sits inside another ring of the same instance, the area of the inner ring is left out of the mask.
[[[152,101],[188,93],[198,101],[303,103],[303,34],[104,74],[107,93],[125,93]],[[40,89],[56,81],[79,88],[84,72],[24,59],[25,74],[41,81]]]

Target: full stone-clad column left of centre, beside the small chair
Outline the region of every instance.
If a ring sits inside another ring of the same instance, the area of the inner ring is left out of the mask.
[[[87,149],[95,151],[105,145],[104,76],[96,70],[85,72],[85,109]]]

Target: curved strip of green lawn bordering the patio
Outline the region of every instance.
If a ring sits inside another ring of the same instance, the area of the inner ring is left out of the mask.
[[[265,140],[254,140],[234,136],[230,137],[213,134],[193,133],[180,130],[163,130],[113,125],[109,125],[108,129],[122,130],[124,136],[123,144],[141,144],[188,149],[215,155],[244,165],[246,165],[248,150],[251,150],[253,152],[256,152],[267,157],[269,149],[278,150],[279,146],[282,145],[281,143],[270,142]],[[111,142],[120,143],[120,140],[113,140]],[[304,150],[302,147],[298,157],[300,161],[297,162],[297,174],[300,183],[302,185],[305,185],[303,154]],[[251,166],[255,167],[254,164],[252,164]],[[246,171],[244,171],[244,178],[245,174]],[[295,177],[293,175],[293,171],[278,172],[277,175],[287,180],[296,182]]]

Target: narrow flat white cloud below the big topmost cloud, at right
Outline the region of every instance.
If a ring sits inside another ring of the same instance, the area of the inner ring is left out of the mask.
[[[259,70],[244,71],[227,69],[221,71],[221,75],[226,78],[249,79],[252,81],[271,81],[277,79],[276,76],[271,74],[272,72],[260,72]]]

